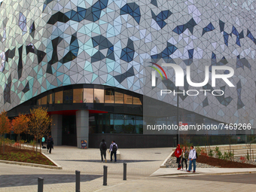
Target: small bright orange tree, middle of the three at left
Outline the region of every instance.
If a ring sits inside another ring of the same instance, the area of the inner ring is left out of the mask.
[[[29,117],[25,114],[19,114],[11,121],[11,130],[19,135],[18,142],[20,143],[20,133],[27,133],[29,128]]]

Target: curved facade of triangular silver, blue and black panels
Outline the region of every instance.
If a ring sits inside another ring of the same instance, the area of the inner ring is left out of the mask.
[[[237,58],[235,91],[218,87],[227,94],[187,97],[180,107],[227,123],[247,111],[253,125],[256,66],[248,60],[255,57],[255,13],[251,0],[4,0],[0,110],[70,84],[143,95],[146,59],[215,59],[213,65],[225,65]]]

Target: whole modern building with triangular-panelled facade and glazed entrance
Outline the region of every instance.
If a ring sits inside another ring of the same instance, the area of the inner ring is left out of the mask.
[[[14,117],[47,107],[56,145],[172,146],[175,135],[143,130],[143,100],[159,100],[147,90],[145,63],[182,59],[186,69],[208,59],[211,67],[233,67],[235,88],[220,83],[223,96],[180,96],[179,120],[255,127],[255,12],[251,0],[3,0],[0,110]],[[204,72],[193,70],[193,81],[202,81]],[[167,76],[175,81],[172,71]],[[157,86],[167,85],[159,76]],[[163,102],[176,111],[177,96]],[[177,123],[176,116],[169,120]]]

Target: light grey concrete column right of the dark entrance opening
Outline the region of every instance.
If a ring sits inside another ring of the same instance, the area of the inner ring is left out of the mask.
[[[79,110],[76,114],[77,141],[78,148],[81,148],[81,140],[87,140],[87,148],[89,147],[89,111]]]

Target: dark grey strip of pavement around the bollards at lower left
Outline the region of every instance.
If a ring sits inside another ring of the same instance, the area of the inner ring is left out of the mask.
[[[0,175],[0,187],[18,187],[38,184],[38,177],[44,178],[44,184],[74,183],[74,175]],[[92,181],[102,175],[81,175],[81,181]]]

